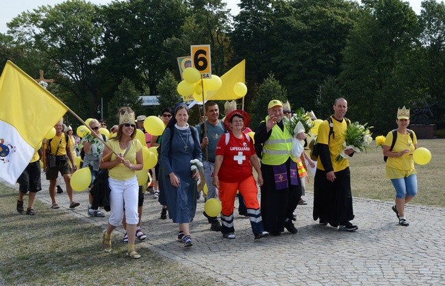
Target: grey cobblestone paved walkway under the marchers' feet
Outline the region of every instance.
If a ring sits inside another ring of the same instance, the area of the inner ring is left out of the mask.
[[[42,184],[37,198],[50,205],[44,174]],[[308,204],[297,208],[296,235],[286,232],[258,241],[249,219],[238,212],[236,239],[223,239],[209,230],[201,198],[190,224],[194,246],[186,249],[176,241],[177,225],[159,219],[161,207],[147,194],[142,230],[148,238],[136,248],[142,255],[146,248],[193,265],[227,285],[445,285],[445,208],[408,205],[410,226],[403,227],[398,226],[392,202],[355,198],[353,222],[359,230],[347,233],[318,226],[312,220],[312,193],[304,198]],[[57,200],[61,210],[69,210],[66,192]],[[86,218],[88,193],[75,192],[75,200],[81,205],[69,212]],[[105,228],[108,216],[88,221]],[[123,235],[118,230],[114,241]]]

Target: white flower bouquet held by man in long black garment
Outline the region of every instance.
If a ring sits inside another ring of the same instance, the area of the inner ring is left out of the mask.
[[[370,129],[372,126],[367,127],[368,123],[361,125],[358,122],[349,124],[344,134],[345,141],[343,142],[343,150],[340,155],[335,158],[336,161],[340,161],[347,158],[344,154],[344,150],[353,149],[355,152],[360,153],[366,151],[366,147],[372,142],[372,133]]]

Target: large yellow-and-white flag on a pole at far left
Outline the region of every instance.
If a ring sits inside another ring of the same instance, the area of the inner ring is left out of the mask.
[[[15,184],[68,107],[9,60],[0,77],[0,103],[0,178]]]

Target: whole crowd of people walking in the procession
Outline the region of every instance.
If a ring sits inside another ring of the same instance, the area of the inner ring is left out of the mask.
[[[112,232],[122,224],[126,230],[123,241],[128,243],[127,254],[138,259],[141,256],[136,252],[135,241],[147,238],[141,229],[142,205],[147,189],[153,187],[153,199],[160,202],[160,218],[168,217],[178,224],[177,240],[189,248],[193,246],[190,222],[196,215],[201,180],[207,187],[205,200],[217,199],[222,205],[220,217],[203,213],[210,230],[220,232],[225,239],[236,238],[233,218],[238,196],[240,215],[249,217],[253,238],[262,239],[281,235],[285,230],[298,233],[293,222],[298,219],[297,206],[307,204],[302,195],[310,181],[308,170],[311,170],[314,173],[311,177],[314,181],[314,220],[322,226],[329,224],[339,230],[358,230],[358,226],[352,223],[355,216],[349,161],[338,160],[340,152],[346,156],[355,154],[352,148],[344,150],[344,134],[351,123],[345,117],[348,110],[346,99],[335,99],[333,115],[320,123],[316,134],[316,158],[309,157],[304,150],[301,156],[292,152],[294,142],[301,142],[306,149],[309,148],[312,145],[309,138],[314,134],[304,131],[293,134],[293,130],[288,130],[285,117],[292,116],[288,102],[272,99],[253,136],[249,128],[249,114],[237,109],[236,102],[225,107],[225,117],[219,119],[218,104],[207,102],[205,119],[196,127],[188,123],[186,104],[164,108],[162,121],[165,130],[160,136],[147,134],[144,130],[146,117],[136,117],[129,107],[120,108],[118,125],[112,127],[109,137],[99,132],[99,128],[106,128],[106,122],[92,119],[88,123],[92,134],[76,140],[71,126],[64,126],[61,120],[55,124],[53,139],[42,142],[17,180],[16,211],[25,212],[23,198],[29,193],[25,213],[36,215],[33,203],[36,193],[41,190],[40,158],[44,159],[46,178],[50,181],[51,208],[60,208],[55,200],[56,188],[57,193],[63,192],[58,185],[58,174],[66,183],[69,207],[79,206],[73,198],[71,175],[81,167],[88,168],[92,178],[88,187],[88,215],[104,217],[105,213],[99,210],[99,206],[110,211],[107,228],[103,231],[105,252],[112,251]],[[315,118],[313,113],[311,117]],[[409,226],[405,204],[417,193],[412,158],[417,149],[417,139],[416,134],[407,129],[409,109],[405,106],[398,109],[396,124],[398,128],[386,136],[383,155],[387,156],[386,178],[396,189],[392,211],[401,226]],[[145,135],[144,142],[136,139],[139,130]],[[77,145],[81,146],[80,150]],[[157,147],[159,154],[156,166],[150,170],[144,169],[145,145]],[[79,152],[83,152],[81,166],[75,161]],[[138,182],[136,174],[141,170],[151,174],[151,184],[149,180],[144,184]]]

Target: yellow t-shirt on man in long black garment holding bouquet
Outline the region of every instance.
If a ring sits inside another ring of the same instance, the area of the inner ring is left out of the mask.
[[[335,120],[333,117],[333,134],[331,134],[331,139],[329,139],[329,121],[325,120],[320,123],[318,127],[318,137],[317,142],[322,144],[329,145],[329,154],[331,156],[331,163],[333,167],[333,171],[342,171],[349,166],[349,160],[343,159],[340,161],[336,161],[338,155],[343,151],[343,142],[345,141],[344,134],[346,133],[346,128],[348,125],[346,124],[346,119],[343,119],[342,122]],[[317,161],[317,169],[325,171],[325,167],[323,167],[321,160]]]

